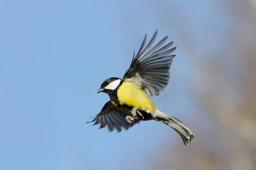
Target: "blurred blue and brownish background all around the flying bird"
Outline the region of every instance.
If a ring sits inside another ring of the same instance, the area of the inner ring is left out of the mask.
[[[256,169],[256,2],[0,1],[1,169]],[[156,121],[86,124],[145,33],[177,46]],[[170,91],[171,89],[171,91]]]

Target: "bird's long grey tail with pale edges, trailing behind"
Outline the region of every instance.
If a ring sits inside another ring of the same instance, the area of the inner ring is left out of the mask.
[[[188,143],[190,143],[191,139],[194,137],[192,131],[177,118],[172,117],[169,114],[160,111],[159,109],[156,110],[154,117],[156,121],[163,122],[164,124],[177,131],[177,133],[179,133],[183,139],[185,145],[188,145]]]

